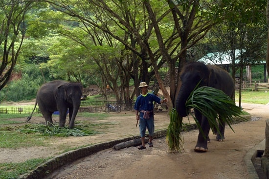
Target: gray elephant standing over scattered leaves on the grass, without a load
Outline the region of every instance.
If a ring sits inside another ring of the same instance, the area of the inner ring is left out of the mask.
[[[64,127],[68,109],[69,128],[73,128],[80,107],[82,88],[80,83],[60,80],[45,83],[37,92],[34,110],[38,104],[46,125],[48,125],[48,122],[52,124],[52,113],[59,111],[59,127]],[[27,122],[31,119],[33,112],[27,118]]]

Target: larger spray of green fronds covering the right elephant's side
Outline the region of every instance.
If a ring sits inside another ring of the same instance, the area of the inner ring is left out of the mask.
[[[236,106],[235,102],[222,90],[212,87],[200,87],[193,90],[186,101],[186,108],[194,108],[201,112],[207,118],[210,128],[215,127],[218,132],[218,122],[225,122],[232,129],[231,124],[235,117],[242,121],[247,120],[242,116],[242,108]],[[193,117],[195,118],[194,115]],[[196,118],[195,121],[197,121]],[[233,129],[232,131],[234,132]]]

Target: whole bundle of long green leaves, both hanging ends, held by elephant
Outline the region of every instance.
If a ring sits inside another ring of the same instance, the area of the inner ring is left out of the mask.
[[[242,121],[247,120],[242,116],[242,108],[236,106],[234,100],[222,90],[211,87],[200,87],[193,90],[185,105],[186,110],[193,108],[201,112],[207,118],[210,128],[216,129],[217,132],[220,132],[219,122],[227,123],[232,129],[231,124],[235,117]],[[195,115],[193,113],[190,114],[193,116],[198,128],[202,131]],[[174,109],[170,113],[170,125],[168,126],[166,138],[171,152],[181,151],[184,143],[182,137],[182,117]]]

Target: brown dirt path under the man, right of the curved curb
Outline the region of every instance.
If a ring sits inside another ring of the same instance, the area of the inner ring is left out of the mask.
[[[154,140],[153,148],[142,151],[136,147],[101,151],[67,164],[47,179],[247,179],[243,158],[249,149],[265,138],[268,107],[244,104],[243,108],[252,114],[253,121],[232,125],[235,133],[227,127],[226,140],[211,140],[207,153],[193,150],[198,135],[196,130],[184,134],[184,152],[181,154],[169,153],[165,138],[159,138]],[[156,125],[159,120],[156,120]],[[211,138],[214,138],[213,134]]]

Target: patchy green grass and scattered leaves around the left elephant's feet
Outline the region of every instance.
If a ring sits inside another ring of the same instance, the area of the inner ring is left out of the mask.
[[[58,126],[47,127],[40,124],[25,124],[22,126],[11,126],[9,124],[18,124],[22,123],[20,121],[9,120],[16,117],[25,117],[25,114],[4,114],[0,115],[0,125],[5,126],[0,127],[0,148],[27,148],[33,146],[50,146],[50,141],[60,140],[63,136],[85,136],[85,135],[94,135],[100,134],[98,130],[100,126],[103,126],[105,129],[115,125],[113,122],[102,122],[91,124],[87,121],[76,121],[76,128],[67,129],[59,128]],[[89,113],[81,112],[78,114],[81,117],[95,118],[96,121],[104,120],[108,116],[107,113]],[[80,147],[70,147],[70,145],[62,144],[58,147],[59,150],[62,150],[61,153],[67,152],[70,150],[82,148]],[[45,162],[49,158],[37,158],[30,159],[22,163],[1,163],[0,164],[0,179],[7,178],[17,178],[19,175],[33,170],[41,163]]]

